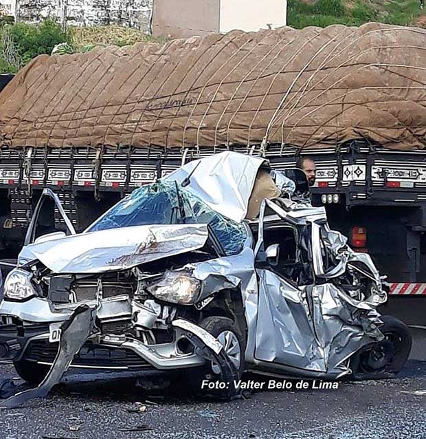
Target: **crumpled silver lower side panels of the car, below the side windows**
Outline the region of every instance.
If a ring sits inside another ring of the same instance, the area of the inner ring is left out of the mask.
[[[336,378],[350,373],[345,364],[350,355],[381,339],[372,316],[355,312],[357,306],[332,284],[300,291],[273,272],[258,274],[258,360]]]

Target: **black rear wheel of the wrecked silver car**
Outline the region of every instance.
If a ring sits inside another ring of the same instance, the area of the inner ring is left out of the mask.
[[[379,328],[385,338],[359,350],[351,360],[355,377],[397,374],[405,365],[412,347],[412,336],[407,325],[392,316],[381,316]]]

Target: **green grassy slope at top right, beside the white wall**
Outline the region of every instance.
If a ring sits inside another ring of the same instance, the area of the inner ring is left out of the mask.
[[[421,14],[418,0],[288,0],[287,23],[298,29],[330,24],[359,26],[368,21],[411,25]]]

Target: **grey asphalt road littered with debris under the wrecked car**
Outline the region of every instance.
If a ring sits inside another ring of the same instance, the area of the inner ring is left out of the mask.
[[[12,365],[0,365],[0,376],[15,376]],[[426,361],[409,361],[392,380],[263,389],[225,403],[191,398],[183,383],[166,391],[93,378],[69,375],[47,398],[0,411],[0,438],[426,438]]]

